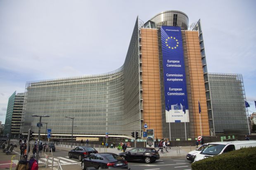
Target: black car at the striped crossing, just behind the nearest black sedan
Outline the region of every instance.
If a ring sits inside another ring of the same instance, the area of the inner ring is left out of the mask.
[[[79,161],[82,161],[83,158],[87,158],[90,156],[90,154],[97,154],[98,151],[94,149],[93,147],[76,147],[75,149],[72,149],[69,151],[69,158],[76,158]]]

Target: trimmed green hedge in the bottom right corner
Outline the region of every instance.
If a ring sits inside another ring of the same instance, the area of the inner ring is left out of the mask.
[[[256,147],[242,148],[192,163],[192,170],[256,170]]]

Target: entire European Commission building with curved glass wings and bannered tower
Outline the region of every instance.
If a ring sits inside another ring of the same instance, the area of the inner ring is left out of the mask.
[[[105,133],[131,138],[135,130],[142,136],[145,124],[159,139],[187,140],[223,132],[212,108],[219,108],[217,100],[211,100],[219,88],[210,93],[200,20],[188,28],[188,16],[180,11],[161,12],[143,24],[137,18],[121,68],[102,75],[27,82],[20,132],[36,132],[39,118],[33,114],[49,115],[42,121],[53,138],[63,139],[71,138],[72,128],[77,139]],[[237,82],[241,104],[244,88]],[[238,107],[235,114],[247,133],[245,108]]]

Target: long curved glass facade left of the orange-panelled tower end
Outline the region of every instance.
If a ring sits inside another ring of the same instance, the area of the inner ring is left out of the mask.
[[[123,137],[140,131],[138,34],[137,19],[125,63],[113,72],[27,82],[21,133],[29,128],[37,131],[39,118],[32,114],[49,115],[42,121],[56,137],[71,134],[72,119],[65,116],[74,117],[74,136],[104,136],[108,132],[110,137]]]

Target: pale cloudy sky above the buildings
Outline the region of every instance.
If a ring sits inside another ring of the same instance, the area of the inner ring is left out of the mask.
[[[0,0],[0,121],[26,82],[98,75],[120,68],[136,17],[166,10],[201,19],[208,72],[242,74],[256,112],[254,0]]]

